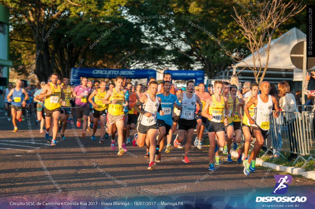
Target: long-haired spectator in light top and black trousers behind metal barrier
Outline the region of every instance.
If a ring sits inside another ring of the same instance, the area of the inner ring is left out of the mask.
[[[297,152],[297,142],[295,136],[295,127],[296,127],[296,119],[294,113],[288,113],[288,112],[298,112],[298,109],[296,107],[296,101],[294,98],[294,95],[290,93],[290,86],[289,83],[286,81],[281,81],[278,83],[278,89],[279,89],[279,96],[280,101],[279,106],[282,111],[286,112],[284,120],[284,126],[287,126],[288,128],[288,134],[289,134],[289,145],[290,145],[290,151],[291,152]],[[290,156],[288,158],[288,161],[293,161],[297,157],[296,154],[290,153]]]

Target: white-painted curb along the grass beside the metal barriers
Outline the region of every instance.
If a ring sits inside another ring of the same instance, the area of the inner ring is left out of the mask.
[[[231,156],[238,157],[238,152],[231,150]],[[256,165],[263,166],[263,167],[272,167],[272,169],[277,170],[277,171],[283,171],[283,172],[291,173],[294,175],[301,175],[305,178],[315,180],[315,171],[304,171],[303,168],[272,164],[270,162],[264,162],[260,158],[256,158]]]

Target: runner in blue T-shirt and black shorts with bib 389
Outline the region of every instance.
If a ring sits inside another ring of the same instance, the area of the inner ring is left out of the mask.
[[[161,151],[163,149],[165,138],[167,137],[167,150],[172,150],[171,141],[172,141],[172,112],[174,104],[177,103],[177,105],[180,105],[178,102],[178,99],[175,94],[170,93],[171,89],[171,82],[164,81],[162,83],[163,85],[163,93],[157,94],[157,97],[161,100],[161,108],[164,112],[163,116],[160,115],[159,112],[157,112],[157,124],[158,129],[160,131],[157,139],[157,145],[156,145],[156,155],[155,160],[157,162],[161,161]]]

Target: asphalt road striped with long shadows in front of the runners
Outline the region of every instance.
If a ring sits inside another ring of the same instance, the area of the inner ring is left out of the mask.
[[[81,139],[86,150],[83,153],[75,140],[70,123],[65,133],[66,141],[57,141],[56,146],[46,144],[44,134],[39,133],[39,125],[35,126],[34,117],[31,117],[31,129],[36,144],[31,143],[27,120],[18,123],[18,127],[18,132],[13,133],[12,122],[7,121],[3,112],[0,113],[2,208],[10,208],[7,205],[10,201],[26,200],[126,201],[152,200],[154,197],[175,200],[187,195],[194,196],[195,201],[198,197],[220,195],[228,200],[233,195],[246,197],[253,189],[256,196],[270,195],[275,186],[273,175],[279,174],[270,171],[267,178],[261,182],[266,172],[265,168],[257,167],[255,173],[245,176],[242,164],[238,164],[235,158],[232,158],[233,162],[224,161],[226,155],[222,153],[223,164],[217,171],[209,174],[206,146],[201,150],[193,149],[189,153],[191,161],[189,164],[182,162],[183,149],[173,147],[170,153],[165,153],[164,147],[162,160],[165,161],[157,163],[156,170],[147,170],[149,161],[148,158],[144,158],[145,148],[127,144],[130,153],[117,156],[118,149],[116,147],[115,151],[111,150],[109,138],[102,145],[98,143],[99,131],[96,134],[96,141],[91,141],[91,132],[87,132],[87,136]],[[81,133],[81,129],[77,127],[76,131]],[[134,133],[135,131],[132,132],[132,136]],[[55,183],[49,179],[37,155],[40,155]],[[207,174],[209,175],[206,176]],[[113,176],[119,183],[106,175]],[[59,192],[54,184],[58,184],[62,191]],[[156,190],[157,192],[154,192]],[[314,194],[314,181],[294,176],[290,191],[292,194],[305,191]]]

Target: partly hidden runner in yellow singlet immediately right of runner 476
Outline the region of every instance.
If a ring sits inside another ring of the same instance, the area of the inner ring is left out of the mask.
[[[234,86],[235,87],[235,86]],[[228,116],[227,126],[225,127],[226,133],[226,144],[223,147],[223,153],[227,154],[227,162],[232,162],[231,159],[231,144],[233,139],[234,127],[233,127],[233,119],[235,116],[235,109],[236,109],[236,93],[231,93],[232,86],[228,82],[223,83],[223,96],[227,98],[228,109],[225,109],[226,115]],[[235,89],[235,88],[234,88]],[[235,90],[234,90],[235,91]],[[230,95],[228,93],[230,92]],[[227,112],[228,111],[228,112]]]

